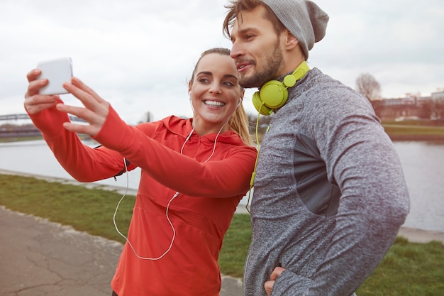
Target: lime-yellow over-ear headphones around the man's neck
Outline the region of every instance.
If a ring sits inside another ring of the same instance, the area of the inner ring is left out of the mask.
[[[288,99],[287,88],[294,87],[309,70],[309,65],[304,61],[291,75],[285,76],[283,82],[272,80],[262,85],[260,91],[252,95],[252,104],[256,110],[262,115],[270,115],[274,109],[284,106]]]

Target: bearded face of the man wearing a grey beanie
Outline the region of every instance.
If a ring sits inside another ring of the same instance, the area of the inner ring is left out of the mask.
[[[281,40],[272,22],[265,18],[263,6],[240,13],[233,23],[231,42],[231,57],[242,87],[261,87],[283,74],[280,73],[284,63]]]

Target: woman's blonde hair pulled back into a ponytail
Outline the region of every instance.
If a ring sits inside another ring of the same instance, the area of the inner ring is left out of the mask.
[[[194,75],[196,74],[196,68],[197,65],[199,65],[199,62],[201,61],[201,58],[204,57],[205,55],[209,55],[210,53],[217,53],[219,55],[230,56],[230,50],[227,48],[211,48],[209,50],[205,50],[204,53],[201,54],[201,57],[199,57],[199,60],[196,62],[196,66],[194,67],[192,74],[192,79],[190,80],[191,83],[193,83]],[[240,91],[243,92],[243,87],[240,87]],[[250,122],[248,121],[248,116],[247,113],[245,112],[245,109],[243,108],[243,104],[240,104],[238,106],[234,114],[231,116],[230,121],[228,121],[228,124],[230,125],[231,131],[235,131],[235,133],[238,133],[240,138],[242,138],[242,140],[246,144],[250,146],[254,145],[252,138],[250,136]]]

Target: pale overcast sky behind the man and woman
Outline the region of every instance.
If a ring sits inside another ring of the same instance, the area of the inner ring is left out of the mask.
[[[309,65],[355,88],[362,73],[384,98],[444,88],[442,0],[315,1],[330,16]],[[0,115],[21,114],[26,73],[40,60],[72,57],[74,75],[128,124],[192,116],[187,81],[200,53],[231,47],[227,0],[1,0]],[[245,95],[251,103],[255,89]],[[78,104],[70,94],[68,104]]]

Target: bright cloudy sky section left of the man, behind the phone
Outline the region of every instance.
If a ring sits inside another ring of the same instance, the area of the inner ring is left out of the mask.
[[[6,1],[0,4],[1,114],[23,112],[26,72],[70,56],[74,75],[131,123],[191,116],[187,79],[201,51],[229,46],[223,1]],[[217,7],[217,9],[215,9]],[[70,95],[62,96],[76,104]],[[131,110],[131,111],[130,111]]]

